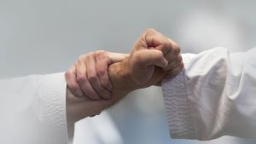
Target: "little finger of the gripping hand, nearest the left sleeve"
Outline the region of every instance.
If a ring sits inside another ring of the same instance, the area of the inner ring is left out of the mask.
[[[83,96],[83,90],[80,88],[79,83],[77,82],[76,77],[76,66],[72,66],[66,73],[65,78],[67,82],[67,86],[73,93],[73,95],[76,96]]]

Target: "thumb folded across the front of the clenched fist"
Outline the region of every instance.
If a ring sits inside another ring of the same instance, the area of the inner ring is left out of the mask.
[[[137,51],[134,54],[134,62],[137,66],[148,68],[148,66],[167,66],[168,61],[165,59],[163,53],[156,49],[144,49]]]

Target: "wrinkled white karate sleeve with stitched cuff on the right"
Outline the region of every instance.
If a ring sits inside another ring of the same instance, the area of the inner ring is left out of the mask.
[[[172,138],[256,138],[255,55],[225,48],[184,54],[183,72],[162,83]]]

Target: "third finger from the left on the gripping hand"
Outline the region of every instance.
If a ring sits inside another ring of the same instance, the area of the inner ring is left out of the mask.
[[[90,55],[86,59],[86,67],[87,67],[87,78],[96,92],[102,96],[103,98],[110,98],[111,94],[108,89],[102,87],[102,84],[96,74],[96,60],[93,55]]]

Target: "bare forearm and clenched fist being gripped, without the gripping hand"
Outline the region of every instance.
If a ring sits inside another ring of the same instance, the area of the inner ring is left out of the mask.
[[[73,124],[79,119],[96,115],[131,91],[160,84],[163,78],[172,78],[182,69],[183,61],[177,43],[160,32],[148,29],[138,38],[131,55],[108,66],[113,84],[111,99],[91,101],[88,95],[73,95],[67,87],[67,123]]]

